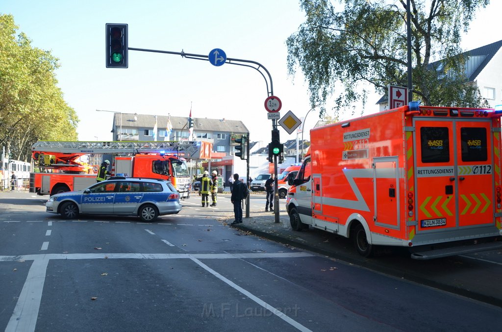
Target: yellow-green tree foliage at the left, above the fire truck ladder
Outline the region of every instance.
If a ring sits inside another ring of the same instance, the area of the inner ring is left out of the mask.
[[[56,85],[58,59],[17,30],[0,15],[0,145],[28,161],[37,140],[76,140],[79,120]]]

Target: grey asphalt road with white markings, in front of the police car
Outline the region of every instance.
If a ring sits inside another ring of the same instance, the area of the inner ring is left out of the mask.
[[[0,193],[6,331],[467,331],[502,323],[497,306],[231,228],[228,197],[216,209],[193,197],[155,223],[64,221],[45,212],[46,199]]]

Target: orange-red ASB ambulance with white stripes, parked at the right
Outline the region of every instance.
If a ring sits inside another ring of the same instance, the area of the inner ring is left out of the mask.
[[[414,259],[502,248],[500,111],[403,106],[310,131],[287,198],[309,226]]]

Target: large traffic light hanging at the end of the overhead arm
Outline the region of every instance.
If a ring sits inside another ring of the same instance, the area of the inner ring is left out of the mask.
[[[106,68],[128,68],[127,24],[106,23]]]

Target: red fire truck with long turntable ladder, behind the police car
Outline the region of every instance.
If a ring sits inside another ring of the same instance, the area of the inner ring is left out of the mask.
[[[38,141],[32,156],[41,172],[30,174],[30,192],[38,195],[81,190],[96,182],[97,165],[88,164],[84,155],[112,156],[111,175],[165,179],[186,199],[190,175],[186,160],[179,155],[196,156],[200,142],[59,142]]]

